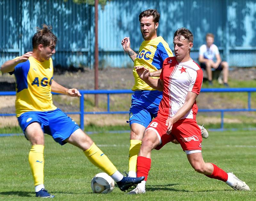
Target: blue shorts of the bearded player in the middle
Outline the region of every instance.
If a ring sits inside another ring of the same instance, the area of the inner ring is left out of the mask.
[[[158,106],[162,97],[162,91],[135,91],[132,95],[132,106],[130,108],[130,126],[133,123],[138,123],[147,128],[148,124],[157,115]]]

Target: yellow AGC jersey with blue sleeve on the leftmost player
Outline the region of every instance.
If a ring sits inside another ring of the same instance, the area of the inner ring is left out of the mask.
[[[16,78],[15,108],[17,117],[24,112],[43,112],[57,108],[52,103],[51,94],[52,58],[39,62],[34,57],[29,57],[26,62],[15,66],[14,71],[10,74],[12,73]]]

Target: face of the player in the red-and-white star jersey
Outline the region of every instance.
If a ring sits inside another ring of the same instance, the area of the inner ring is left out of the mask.
[[[193,47],[193,43],[185,39],[184,36],[177,36],[173,39],[174,54],[178,62],[182,62],[184,58],[189,58],[189,50]]]

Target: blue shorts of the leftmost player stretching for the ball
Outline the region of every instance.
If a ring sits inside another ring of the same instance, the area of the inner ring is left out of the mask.
[[[75,121],[68,117],[59,108],[46,112],[25,112],[18,117],[20,127],[25,133],[26,128],[33,122],[38,122],[44,133],[61,145],[66,144],[66,140],[72,133],[80,128]]]

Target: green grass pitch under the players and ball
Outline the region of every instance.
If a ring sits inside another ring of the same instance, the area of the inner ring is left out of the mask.
[[[120,172],[128,169],[129,133],[91,135]],[[45,136],[45,186],[54,200],[255,200],[255,131],[210,132],[203,156],[234,172],[251,191],[234,191],[224,182],[196,173],[180,145],[169,143],[152,151],[146,194],[127,195],[117,187],[110,194],[92,193],[92,177],[101,172],[78,148],[60,146]],[[28,164],[29,142],[23,136],[0,137],[0,200],[35,200]]]

